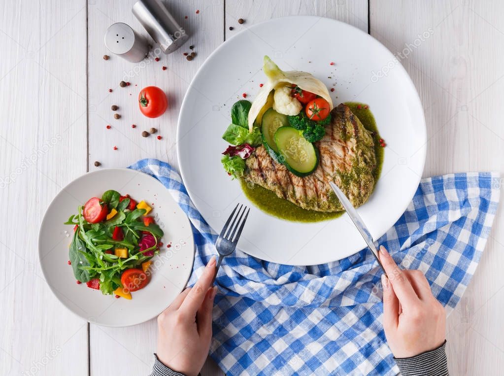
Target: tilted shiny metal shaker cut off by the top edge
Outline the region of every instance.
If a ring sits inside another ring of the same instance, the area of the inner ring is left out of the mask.
[[[175,51],[189,38],[161,0],[139,0],[132,12],[166,54]]]

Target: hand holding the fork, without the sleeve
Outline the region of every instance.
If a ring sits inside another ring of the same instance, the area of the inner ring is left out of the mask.
[[[187,376],[197,375],[212,340],[212,308],[217,287],[211,287],[215,257],[193,288],[182,291],[158,316],[157,357],[167,367]]]

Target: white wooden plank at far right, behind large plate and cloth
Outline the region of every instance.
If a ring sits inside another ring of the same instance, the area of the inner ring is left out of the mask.
[[[371,35],[393,53],[411,50],[399,60],[425,111],[424,176],[504,172],[504,129],[498,111],[504,94],[504,66],[499,63],[504,53],[502,12],[502,2],[370,2]],[[424,32],[429,36],[422,41],[419,35]],[[504,366],[501,213],[475,276],[448,319],[450,374],[497,374]]]

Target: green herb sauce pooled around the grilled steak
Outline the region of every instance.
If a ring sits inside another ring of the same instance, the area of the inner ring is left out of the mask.
[[[345,103],[352,112],[359,118],[365,129],[370,132],[374,132],[374,153],[376,155],[376,168],[374,170],[374,181],[376,182],[380,177],[382,172],[382,164],[384,158],[384,148],[380,146],[378,140],[380,140],[380,135],[378,133],[378,128],[376,127],[376,121],[371,111],[364,108],[363,103],[358,102],[346,102]],[[357,109],[360,105],[361,108]],[[314,210],[302,209],[296,204],[290,201],[279,198],[272,191],[260,185],[247,184],[243,179],[240,180],[241,189],[247,197],[248,200],[253,202],[262,211],[278,217],[280,219],[286,219],[293,222],[321,222],[327,221],[328,219],[338,218],[343,215],[344,212],[318,212]],[[376,184],[375,184],[376,185]]]

